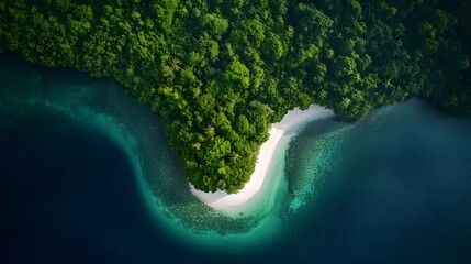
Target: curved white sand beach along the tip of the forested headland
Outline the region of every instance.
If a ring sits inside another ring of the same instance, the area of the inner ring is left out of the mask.
[[[305,111],[299,108],[289,111],[279,123],[272,124],[268,141],[260,146],[254,174],[240,191],[237,194],[227,194],[225,190],[204,193],[194,189],[190,184],[191,193],[208,206],[221,211],[236,212],[247,209],[250,206],[250,200],[259,194],[263,183],[267,182],[267,176],[270,175],[270,167],[273,165],[273,157],[277,154],[284,153],[284,150],[281,148],[287,147],[288,144],[281,145],[282,139],[284,136],[292,136],[307,122],[333,116],[332,110],[318,105],[311,105]]]

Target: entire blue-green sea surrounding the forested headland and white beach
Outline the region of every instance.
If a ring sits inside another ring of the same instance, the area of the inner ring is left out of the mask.
[[[0,84],[8,263],[471,260],[469,119],[413,100],[313,122],[265,212],[232,219],[189,193],[162,123],[114,82],[3,55]]]

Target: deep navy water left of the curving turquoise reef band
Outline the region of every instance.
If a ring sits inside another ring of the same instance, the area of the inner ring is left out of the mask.
[[[124,261],[127,250],[145,253],[130,248],[147,237],[141,224],[128,228],[147,222],[132,170],[106,138],[35,119],[3,129],[0,145],[2,257]]]

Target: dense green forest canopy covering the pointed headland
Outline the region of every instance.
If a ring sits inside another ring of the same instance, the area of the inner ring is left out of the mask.
[[[471,113],[469,1],[2,0],[0,52],[111,77],[166,122],[189,180],[236,193],[270,123],[411,97]]]

